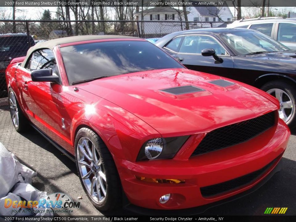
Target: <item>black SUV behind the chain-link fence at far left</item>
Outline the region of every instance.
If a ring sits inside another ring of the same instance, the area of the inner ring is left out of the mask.
[[[12,59],[25,56],[33,45],[34,39],[25,33],[0,34],[0,98],[7,97],[6,67]]]

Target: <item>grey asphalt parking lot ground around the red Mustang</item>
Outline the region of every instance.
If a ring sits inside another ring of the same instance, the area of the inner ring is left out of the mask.
[[[263,215],[267,207],[287,207],[286,215],[296,215],[296,132],[293,134],[283,156],[280,173],[252,194],[208,209],[203,215]],[[69,215],[106,215],[90,204],[76,174],[74,162],[35,130],[28,128],[26,133],[17,133],[10,119],[8,106],[0,107],[0,142],[14,153],[21,163],[37,172],[38,175],[33,179],[33,186],[37,189],[47,191],[48,194],[63,192],[74,201],[81,202],[80,208]],[[123,210],[107,214],[132,215]]]

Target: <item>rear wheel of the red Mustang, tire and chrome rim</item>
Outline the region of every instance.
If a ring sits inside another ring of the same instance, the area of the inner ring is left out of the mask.
[[[19,107],[19,102],[17,101],[15,93],[11,88],[8,90],[8,102],[14,129],[21,133],[26,129],[26,127],[28,128],[29,123]]]

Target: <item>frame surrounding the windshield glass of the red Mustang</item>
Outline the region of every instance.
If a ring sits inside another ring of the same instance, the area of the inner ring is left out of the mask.
[[[73,43],[64,43],[59,45],[60,48],[60,56],[61,59],[63,61],[63,69],[65,71],[65,76],[67,78],[68,81],[68,85],[77,85],[77,84],[83,84],[85,82],[90,82],[92,80],[90,79],[85,79],[86,81],[83,82],[83,80],[80,80],[80,83],[75,83],[76,81],[72,82],[67,74],[67,68],[66,68],[66,63],[65,63],[65,55],[62,52],[62,48],[64,47],[69,47],[69,46],[77,46],[77,45],[83,45],[83,44],[91,44],[91,43],[103,43],[103,42],[122,42],[122,41],[132,41],[132,42],[136,42],[136,41],[141,41],[141,42],[146,42],[148,44],[151,44],[151,46],[156,47],[156,50],[160,50],[162,53],[166,54],[167,56],[171,57],[172,61],[175,61],[176,64],[179,64],[180,67],[175,67],[175,68],[186,68],[183,64],[181,64],[180,62],[178,62],[177,60],[175,60],[169,53],[167,53],[166,51],[162,50],[161,48],[157,47],[156,45],[154,45],[153,43],[150,43],[149,41],[145,40],[145,39],[134,39],[134,38],[130,38],[130,39],[121,39],[120,37],[118,39],[95,39],[95,40],[86,40],[86,41],[80,41],[80,42],[73,42]],[[174,68],[174,67],[171,67]],[[166,69],[166,68],[157,68],[157,69]],[[120,73],[120,74],[116,74],[116,75],[110,75],[110,76],[104,76],[104,77],[112,77],[112,76],[119,76],[119,75],[125,75],[125,74],[130,74],[130,73],[136,73],[136,72],[144,72],[144,71],[150,71],[150,70],[155,70],[155,69],[147,69],[147,70],[139,70],[139,71],[135,71],[135,72],[127,72],[127,73]],[[96,76],[96,77],[91,77],[93,78],[93,80],[98,79],[97,77],[100,76]],[[99,78],[100,79],[100,78]],[[75,83],[75,84],[73,84]]]

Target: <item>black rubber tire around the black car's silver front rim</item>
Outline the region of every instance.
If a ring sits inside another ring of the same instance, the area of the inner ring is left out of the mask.
[[[290,118],[290,120],[287,122],[287,124],[289,125],[290,129],[293,129],[296,127],[296,100],[295,100],[295,96],[296,96],[296,91],[294,90],[293,86],[285,81],[271,81],[268,82],[266,84],[264,84],[261,87],[261,90],[267,92],[270,89],[281,89],[284,92],[286,92],[289,97],[291,98],[291,101],[293,103],[293,107],[294,107],[294,111],[292,113],[292,117]]]

